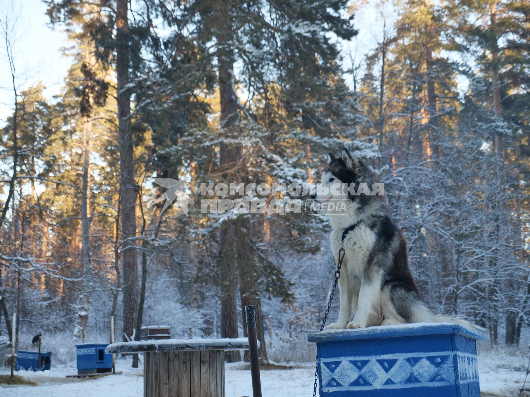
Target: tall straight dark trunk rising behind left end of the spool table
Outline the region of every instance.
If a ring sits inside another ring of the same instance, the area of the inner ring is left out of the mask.
[[[136,257],[136,183],[133,164],[133,136],[130,120],[129,41],[127,0],[116,3],[116,74],[118,77],[118,127],[120,150],[120,206],[123,248],[123,333],[129,338],[136,328],[138,309],[138,264]],[[139,332],[137,332],[139,336]],[[127,340],[125,335],[124,340]]]

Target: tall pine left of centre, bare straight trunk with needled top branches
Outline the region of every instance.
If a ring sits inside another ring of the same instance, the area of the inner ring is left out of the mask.
[[[133,130],[131,129],[129,79],[131,69],[139,66],[138,59],[143,37],[143,26],[130,28],[128,1],[96,2],[86,10],[82,3],[48,1],[48,15],[52,22],[77,23],[84,34],[90,34],[95,44],[95,56],[107,65],[116,65],[117,103],[120,154],[120,209],[123,239],[123,334],[129,339],[136,334],[138,311],[138,260],[136,252],[136,192]],[[80,20],[81,15],[86,15]],[[116,35],[112,32],[116,29]],[[140,38],[140,39],[138,39]],[[138,39],[138,40],[137,40]],[[134,44],[133,44],[134,43]],[[138,332],[139,334],[139,332]],[[139,337],[139,335],[138,335]],[[133,338],[134,339],[134,338]],[[136,362],[134,364],[137,364]]]

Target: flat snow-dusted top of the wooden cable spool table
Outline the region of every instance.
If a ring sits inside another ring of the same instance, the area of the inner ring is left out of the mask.
[[[260,341],[258,340],[258,347]],[[162,339],[119,342],[107,346],[107,353],[148,353],[176,350],[245,350],[249,338],[220,339]]]

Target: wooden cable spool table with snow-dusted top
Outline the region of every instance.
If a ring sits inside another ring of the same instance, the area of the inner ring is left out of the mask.
[[[224,352],[248,348],[248,338],[165,339],[114,343],[107,352],[144,354],[144,397],[225,397]]]

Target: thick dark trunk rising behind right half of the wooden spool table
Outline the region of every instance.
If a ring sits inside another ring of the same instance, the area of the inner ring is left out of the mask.
[[[221,107],[221,128],[233,132],[238,119],[237,98],[234,86],[234,50],[229,47],[233,38],[231,3],[218,0],[216,2],[216,40],[217,65],[219,77],[219,100]],[[237,145],[220,144],[220,165],[222,168],[232,168],[241,160],[241,147]],[[227,178],[228,174],[223,175]],[[234,241],[238,238],[238,227],[234,221],[225,222],[219,231],[219,270],[221,274],[221,336],[223,338],[237,338],[237,260]],[[239,351],[227,351],[227,362],[241,360]]]

